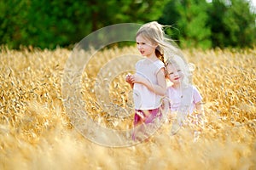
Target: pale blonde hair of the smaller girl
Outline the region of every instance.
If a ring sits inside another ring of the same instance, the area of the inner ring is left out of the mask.
[[[183,85],[188,86],[192,83],[193,71],[195,71],[194,64],[186,63],[182,57],[173,55],[172,57],[166,59],[166,66],[167,65],[177,65],[179,69],[183,71]]]

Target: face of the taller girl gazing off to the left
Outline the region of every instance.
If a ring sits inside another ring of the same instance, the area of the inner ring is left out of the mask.
[[[136,42],[137,42],[137,49],[143,56],[150,57],[155,55],[154,50],[157,47],[157,45],[153,44],[152,42],[150,42],[148,39],[144,38],[141,35],[138,35],[136,37]]]

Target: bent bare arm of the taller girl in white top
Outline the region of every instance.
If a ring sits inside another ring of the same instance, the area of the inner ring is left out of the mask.
[[[150,91],[158,95],[166,94],[166,77],[165,70],[162,68],[156,75],[158,84],[152,84],[148,79],[140,77],[138,75],[131,76],[131,82],[141,83],[146,86]]]

